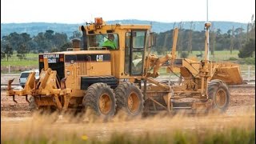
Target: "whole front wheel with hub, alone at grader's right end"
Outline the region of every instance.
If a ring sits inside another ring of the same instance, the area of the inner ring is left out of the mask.
[[[214,79],[208,83],[208,97],[213,101],[212,110],[223,113],[230,103],[230,91],[224,82]]]

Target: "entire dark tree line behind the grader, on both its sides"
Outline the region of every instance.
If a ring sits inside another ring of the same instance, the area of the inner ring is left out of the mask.
[[[177,50],[181,57],[186,57],[193,50],[204,50],[204,30],[193,30],[193,23],[191,23],[189,30],[183,29],[182,22],[178,28]],[[168,30],[157,34],[157,46],[152,50],[158,54],[165,54],[166,51],[170,51],[173,31]],[[14,54],[14,50],[17,51],[17,57],[20,59],[26,58],[28,53],[64,51],[66,48],[72,47],[70,40],[73,38],[82,38],[82,34],[79,31],[74,31],[73,35],[68,38],[65,33],[46,30],[30,37],[30,34],[27,33],[14,32],[1,38],[1,59],[6,58],[8,61]],[[224,34],[220,29],[214,30],[213,24],[210,29],[210,50],[211,54],[214,54],[214,50],[230,50],[230,53],[232,50],[239,50],[239,58],[252,57],[255,54],[255,20],[248,23],[247,30],[242,27],[235,30],[231,28]]]

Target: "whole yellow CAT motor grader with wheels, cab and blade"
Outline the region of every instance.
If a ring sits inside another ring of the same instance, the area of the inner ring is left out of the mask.
[[[155,44],[151,26],[108,25],[95,18],[95,22],[79,26],[82,42],[74,39],[73,47],[66,51],[39,54],[38,81],[31,72],[24,89],[13,90],[10,80],[6,93],[13,98],[26,96],[31,110],[90,109],[103,118],[119,111],[131,117],[159,110],[225,111],[230,101],[227,85],[241,84],[242,77],[237,64],[209,60],[209,28],[210,22],[206,22],[205,58],[194,61],[176,58],[177,28],[172,51],[158,57],[150,54]],[[103,46],[106,41],[114,42],[114,47]],[[158,81],[163,65],[179,76],[178,83]],[[197,101],[179,101],[186,98]]]

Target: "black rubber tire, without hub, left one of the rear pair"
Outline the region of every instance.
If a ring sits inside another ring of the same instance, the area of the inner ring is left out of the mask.
[[[108,114],[102,114],[98,102],[102,94],[108,94],[111,101],[110,112]],[[94,111],[94,114],[102,118],[112,118],[114,117],[116,110],[116,98],[114,90],[107,86],[106,83],[98,82],[89,86],[86,90],[86,95],[82,99],[82,105],[85,106],[85,109],[91,109]]]

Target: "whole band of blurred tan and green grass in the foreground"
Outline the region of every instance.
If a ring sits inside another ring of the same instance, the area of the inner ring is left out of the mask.
[[[255,143],[253,114],[177,115],[111,122],[1,122],[1,143]]]

